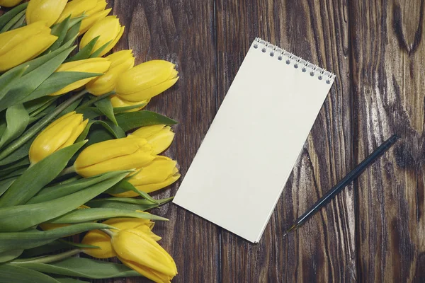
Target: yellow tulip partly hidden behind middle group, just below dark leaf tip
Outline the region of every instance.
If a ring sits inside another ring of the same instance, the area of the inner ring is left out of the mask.
[[[174,139],[174,132],[166,125],[140,127],[128,137],[142,137],[152,146],[153,154],[160,154],[166,150]]]

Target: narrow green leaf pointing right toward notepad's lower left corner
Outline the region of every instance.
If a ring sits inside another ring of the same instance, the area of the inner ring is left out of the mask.
[[[132,211],[135,211],[135,210],[146,211],[148,209],[159,207],[160,205],[165,204],[166,202],[169,202],[171,200],[173,200],[173,197],[169,197],[163,200],[157,200],[159,204],[152,204],[152,202],[149,202],[147,200],[131,199],[126,197],[111,197],[106,199],[91,200],[90,202],[87,202],[86,204],[92,208],[102,207],[102,208],[127,209]]]

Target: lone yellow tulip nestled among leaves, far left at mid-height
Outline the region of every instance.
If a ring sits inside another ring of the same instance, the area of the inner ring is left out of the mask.
[[[74,144],[89,122],[83,121],[83,115],[70,112],[52,122],[38,134],[31,144],[29,156],[31,164],[35,164],[50,154]]]

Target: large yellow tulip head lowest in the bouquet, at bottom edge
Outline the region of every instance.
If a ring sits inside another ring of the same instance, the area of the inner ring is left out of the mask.
[[[114,232],[112,247],[128,267],[154,282],[171,282],[177,274],[176,262],[148,233],[137,229]]]

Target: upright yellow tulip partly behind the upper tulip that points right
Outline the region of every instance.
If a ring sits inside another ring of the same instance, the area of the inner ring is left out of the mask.
[[[118,76],[135,65],[135,57],[132,55],[132,50],[115,52],[106,58],[111,61],[111,67],[103,76],[90,81],[86,86],[86,90],[94,96],[101,96],[113,91]]]

